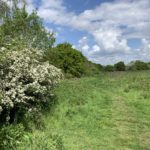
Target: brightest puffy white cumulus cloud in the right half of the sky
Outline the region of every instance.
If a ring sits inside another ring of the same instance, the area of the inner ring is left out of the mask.
[[[105,53],[128,53],[130,51],[126,39],[122,38],[118,29],[102,27],[92,34]]]

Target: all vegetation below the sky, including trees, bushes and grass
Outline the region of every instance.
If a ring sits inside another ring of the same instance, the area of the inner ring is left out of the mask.
[[[150,63],[55,45],[24,0],[0,0],[0,22],[0,150],[150,148]]]

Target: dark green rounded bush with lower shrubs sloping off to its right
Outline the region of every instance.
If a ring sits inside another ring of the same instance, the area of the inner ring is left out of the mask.
[[[45,60],[61,68],[66,76],[81,77],[99,73],[98,65],[87,60],[81,52],[69,43],[58,44],[45,53]]]

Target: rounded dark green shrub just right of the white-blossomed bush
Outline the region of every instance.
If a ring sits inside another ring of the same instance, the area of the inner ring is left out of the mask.
[[[68,43],[58,44],[55,48],[46,52],[46,60],[65,74],[81,77],[84,74],[84,61],[86,58],[77,50],[73,49]]]

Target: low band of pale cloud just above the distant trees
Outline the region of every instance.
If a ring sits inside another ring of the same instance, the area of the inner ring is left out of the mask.
[[[78,46],[82,53],[89,58],[89,60],[95,63],[101,64],[114,64],[118,61],[124,61],[129,63],[131,60],[143,60],[150,61],[150,41],[147,39],[142,39],[142,45],[139,49],[129,51],[127,53],[105,53],[101,50],[99,45],[93,45],[90,47],[88,45],[88,38],[82,37],[78,41]]]

